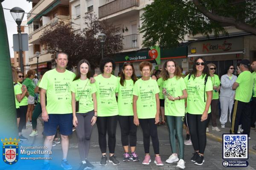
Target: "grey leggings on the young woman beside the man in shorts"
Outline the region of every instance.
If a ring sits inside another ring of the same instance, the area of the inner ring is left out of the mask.
[[[90,136],[93,126],[91,120],[94,115],[94,110],[87,113],[76,113],[78,125],[76,134],[78,139],[78,149],[81,161],[85,161],[88,157],[90,147]]]

